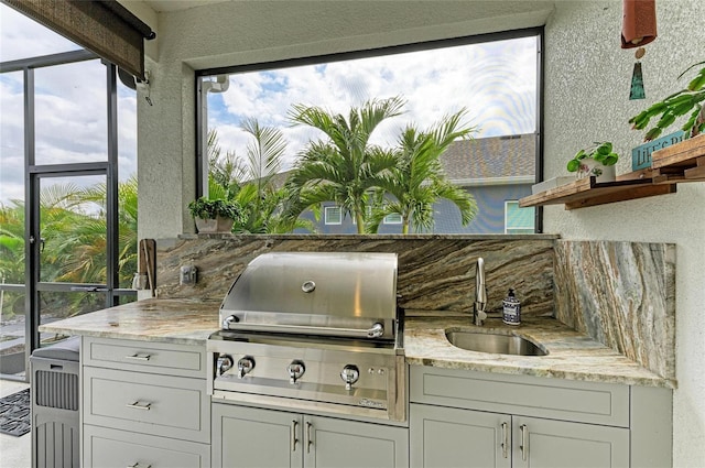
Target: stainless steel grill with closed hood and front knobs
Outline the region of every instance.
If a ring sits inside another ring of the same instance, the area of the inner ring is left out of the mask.
[[[254,259],[208,340],[214,399],[404,421],[393,253]]]

